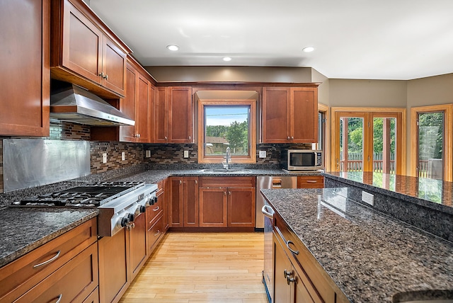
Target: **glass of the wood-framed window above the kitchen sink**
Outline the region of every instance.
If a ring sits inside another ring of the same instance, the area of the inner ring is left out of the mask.
[[[204,106],[205,156],[223,156],[230,147],[231,156],[248,155],[250,138],[249,105]]]

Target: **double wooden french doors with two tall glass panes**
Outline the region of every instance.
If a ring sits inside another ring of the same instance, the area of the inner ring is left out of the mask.
[[[332,108],[332,171],[401,174],[405,109]]]

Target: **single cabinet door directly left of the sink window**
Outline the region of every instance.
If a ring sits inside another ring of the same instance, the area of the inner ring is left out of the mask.
[[[171,87],[168,134],[171,143],[192,143],[192,87]]]

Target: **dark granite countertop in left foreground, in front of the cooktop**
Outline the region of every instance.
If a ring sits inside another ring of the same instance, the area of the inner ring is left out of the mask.
[[[1,208],[0,267],[97,215],[96,209]]]

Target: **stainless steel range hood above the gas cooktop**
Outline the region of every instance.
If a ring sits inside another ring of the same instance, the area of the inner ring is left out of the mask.
[[[134,120],[121,113],[113,105],[75,84],[67,84],[52,91],[50,117],[96,126],[135,124]]]

